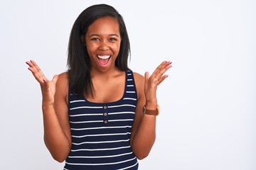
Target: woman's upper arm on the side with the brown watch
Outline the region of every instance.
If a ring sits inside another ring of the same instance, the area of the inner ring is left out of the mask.
[[[137,89],[138,101],[137,101],[137,106],[135,110],[134,123],[132,125],[132,135],[130,139],[131,145],[134,139],[134,135],[137,132],[142,120],[142,116],[143,116],[142,108],[146,103],[146,98],[144,94],[144,77],[141,74],[134,72],[134,80],[135,80],[135,85]]]

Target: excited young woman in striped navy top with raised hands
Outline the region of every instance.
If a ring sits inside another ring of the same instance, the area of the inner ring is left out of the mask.
[[[41,85],[44,141],[64,169],[138,169],[154,145],[156,87],[171,62],[149,76],[127,66],[130,45],[122,16],[106,4],[82,11],[70,33],[68,72],[48,80],[26,62]]]

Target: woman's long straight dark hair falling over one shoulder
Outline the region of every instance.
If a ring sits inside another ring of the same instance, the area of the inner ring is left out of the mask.
[[[127,60],[130,55],[130,44],[127,28],[124,19],[118,11],[107,4],[97,4],[86,8],[76,19],[70,33],[68,43],[68,81],[70,93],[93,96],[93,85],[90,75],[91,62],[82,40],[88,27],[98,18],[111,16],[116,18],[119,23],[119,32],[121,35],[121,45],[115,65],[122,71],[128,68]]]

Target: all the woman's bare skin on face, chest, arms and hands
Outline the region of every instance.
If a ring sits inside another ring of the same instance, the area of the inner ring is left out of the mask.
[[[95,96],[88,97],[88,101],[107,103],[122,98],[125,72],[114,66],[121,41],[119,25],[112,17],[99,18],[88,28],[85,45],[92,62],[91,75],[95,90]],[[110,60],[107,64],[101,64],[98,55],[110,55]],[[31,60],[26,64],[41,86],[46,147],[55,160],[63,162],[72,144],[68,120],[68,73],[63,72],[48,80],[36,62]],[[156,138],[156,115],[143,114],[142,108],[146,105],[146,109],[156,109],[156,89],[168,77],[165,72],[169,68],[171,62],[164,61],[151,75],[149,72],[144,76],[134,72],[138,103],[130,143],[138,159],[144,159],[149,154]]]

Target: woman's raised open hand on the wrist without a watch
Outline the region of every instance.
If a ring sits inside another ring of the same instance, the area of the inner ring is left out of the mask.
[[[28,64],[28,69],[33,74],[33,77],[38,81],[41,86],[42,96],[43,96],[43,105],[51,106],[54,103],[54,95],[55,95],[55,86],[58,80],[58,75],[55,75],[53,79],[50,81],[46,78],[46,76],[41,71],[40,67],[34,62],[30,60],[26,62]]]

